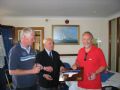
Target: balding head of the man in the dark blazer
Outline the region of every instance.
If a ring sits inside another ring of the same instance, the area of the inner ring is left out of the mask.
[[[46,38],[43,40],[43,44],[44,44],[44,47],[45,49],[49,50],[49,51],[52,51],[53,48],[54,48],[54,41],[52,38]]]

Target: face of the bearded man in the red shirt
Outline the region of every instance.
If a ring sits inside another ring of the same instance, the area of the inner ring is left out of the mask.
[[[92,36],[89,34],[84,34],[82,37],[82,43],[85,48],[90,48],[92,45]]]

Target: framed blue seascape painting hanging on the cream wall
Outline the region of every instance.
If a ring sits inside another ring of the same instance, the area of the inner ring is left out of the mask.
[[[52,25],[52,37],[55,44],[73,45],[79,44],[79,25]]]

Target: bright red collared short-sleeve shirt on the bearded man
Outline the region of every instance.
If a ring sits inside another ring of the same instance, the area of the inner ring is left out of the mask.
[[[84,68],[83,80],[78,81],[79,87],[87,89],[99,89],[102,87],[100,74],[97,74],[95,80],[88,79],[88,77],[92,73],[95,73],[98,68],[107,66],[104,54],[100,48],[92,46],[87,55],[85,48],[81,48],[77,56],[76,64],[79,64],[80,67]]]

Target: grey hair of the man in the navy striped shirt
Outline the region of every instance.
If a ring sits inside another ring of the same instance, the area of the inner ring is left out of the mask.
[[[20,40],[23,38],[23,36],[30,36],[30,34],[33,32],[34,31],[30,27],[23,28],[22,31],[20,32]]]

